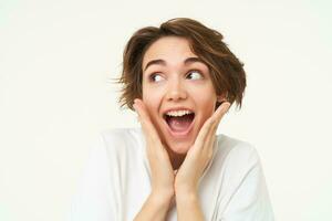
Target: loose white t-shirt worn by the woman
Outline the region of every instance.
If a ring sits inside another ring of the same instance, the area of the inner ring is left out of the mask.
[[[141,128],[100,134],[74,197],[71,221],[129,221],[151,193],[151,169]],[[218,135],[214,157],[199,182],[205,220],[273,221],[256,149]],[[173,202],[167,221],[177,220]]]

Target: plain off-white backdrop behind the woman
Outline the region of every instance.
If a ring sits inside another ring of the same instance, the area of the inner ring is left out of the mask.
[[[258,149],[277,220],[332,220],[332,4],[326,1],[0,1],[0,220],[64,220],[117,104],[134,31],[176,17],[220,31],[245,63],[243,107],[218,131]]]

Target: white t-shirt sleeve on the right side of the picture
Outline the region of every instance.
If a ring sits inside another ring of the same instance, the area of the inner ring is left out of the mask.
[[[245,152],[245,154],[243,154]],[[234,157],[237,172],[230,197],[217,221],[273,221],[273,211],[257,150],[250,146],[246,151],[236,150]],[[221,210],[221,208],[219,208]]]

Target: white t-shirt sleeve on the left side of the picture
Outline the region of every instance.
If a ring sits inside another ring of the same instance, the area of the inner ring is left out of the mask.
[[[112,159],[107,155],[103,135],[100,134],[79,180],[69,221],[118,220],[111,167]]]

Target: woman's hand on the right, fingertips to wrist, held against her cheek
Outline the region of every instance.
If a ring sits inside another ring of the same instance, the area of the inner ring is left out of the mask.
[[[199,179],[212,158],[216,130],[229,106],[228,102],[222,103],[200,128],[194,146],[188,150],[186,159],[176,173],[176,194],[197,193]]]

